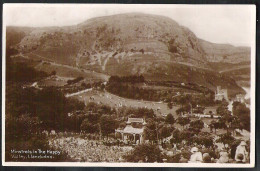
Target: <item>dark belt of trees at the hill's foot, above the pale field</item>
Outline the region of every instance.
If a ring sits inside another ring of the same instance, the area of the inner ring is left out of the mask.
[[[148,88],[142,87],[141,85],[143,84],[148,84],[151,86],[174,87],[180,89],[174,90],[173,88],[173,89],[160,90],[160,89],[153,89],[149,87]],[[169,104],[170,106],[172,103],[179,104],[181,96],[177,95],[177,92],[182,93],[182,95],[184,95],[185,89],[187,89],[187,91],[188,90],[193,91],[195,96],[197,96],[196,98],[198,104],[210,105],[214,103],[213,93],[204,87],[198,87],[191,83],[186,85],[181,85],[180,83],[171,82],[171,81],[170,82],[169,81],[168,82],[147,82],[145,81],[142,75],[124,76],[124,77],[111,76],[106,86],[107,91],[121,97],[137,99],[137,100],[165,101],[170,103]],[[189,97],[187,96],[187,98]]]

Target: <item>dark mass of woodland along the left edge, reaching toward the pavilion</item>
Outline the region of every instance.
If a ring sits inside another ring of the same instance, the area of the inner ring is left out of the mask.
[[[114,133],[120,123],[122,125],[125,122],[126,116],[130,114],[133,117],[154,117],[153,111],[149,109],[121,108],[119,112],[109,106],[95,103],[85,106],[76,99],[65,98],[56,87],[38,89],[25,86],[49,75],[22,63],[14,62],[10,56],[15,53],[16,51],[12,49],[7,50],[6,161],[27,161],[27,159],[11,157],[11,150],[14,147],[16,150],[50,149],[47,137],[42,133],[44,130],[82,131],[109,136]],[[21,76],[20,73],[24,75]],[[78,82],[81,79],[77,78],[74,81]],[[82,86],[88,87],[84,84]],[[35,159],[41,162],[49,160],[67,161],[70,159],[66,154],[55,159]]]

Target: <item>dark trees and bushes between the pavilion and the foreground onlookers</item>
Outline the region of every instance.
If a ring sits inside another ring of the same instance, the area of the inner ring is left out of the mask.
[[[187,150],[194,145],[202,145],[205,147],[203,153],[209,153],[211,157],[216,158],[218,152],[215,143],[222,143],[225,148],[231,149],[232,158],[234,158],[234,150],[239,145],[240,140],[236,140],[230,132],[220,134],[217,139],[214,139],[212,134],[203,132],[204,123],[202,120],[190,120],[189,118],[178,117],[174,119],[171,114],[168,114],[165,119],[150,118],[147,119],[147,127],[145,129],[145,138],[151,143],[141,144],[124,156],[128,162],[159,162],[163,158],[167,159],[167,162],[179,162],[180,156],[184,156],[186,159],[190,158],[190,151]],[[183,126],[183,129],[178,129],[174,126],[178,123]],[[189,125],[188,127],[185,127]],[[163,139],[170,137],[170,144],[163,143]],[[162,142],[163,148],[172,147],[172,144],[176,144],[181,152],[169,157],[162,153],[158,148],[158,142]],[[168,146],[170,145],[170,146]],[[228,146],[226,146],[228,145]]]

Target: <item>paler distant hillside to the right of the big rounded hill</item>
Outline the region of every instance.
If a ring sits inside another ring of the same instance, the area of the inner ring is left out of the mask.
[[[211,68],[231,77],[239,86],[250,87],[251,50],[200,40]]]

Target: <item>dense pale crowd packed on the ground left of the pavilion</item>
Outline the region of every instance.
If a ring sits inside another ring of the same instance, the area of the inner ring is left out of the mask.
[[[102,141],[73,136],[51,138],[49,145],[80,162],[125,162],[123,155],[132,149],[130,146],[107,146]]]

